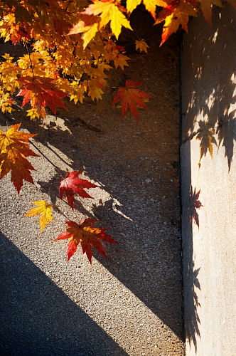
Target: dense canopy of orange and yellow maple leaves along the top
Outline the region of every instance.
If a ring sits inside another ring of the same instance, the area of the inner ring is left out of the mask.
[[[235,0],[229,2],[236,7]],[[161,45],[180,27],[188,32],[189,16],[202,11],[210,23],[212,4],[222,7],[221,0],[127,0],[126,7],[121,0],[92,0],[92,4],[87,0],[2,0],[0,36],[14,45],[21,43],[27,51],[20,58],[8,53],[2,57],[2,112],[12,111],[12,95],[17,90],[23,105],[31,103],[27,110],[31,119],[45,117],[45,106],[54,114],[56,106],[65,108],[62,99],[67,96],[75,104],[82,103],[85,95],[101,100],[106,71],[128,66],[129,57],[116,40],[122,27],[132,31],[130,15],[141,4],[154,18],[154,25],[164,21]],[[157,6],[162,8],[158,16]],[[149,48],[144,39],[135,45],[140,52]],[[128,101],[129,108],[136,107],[136,100]]]

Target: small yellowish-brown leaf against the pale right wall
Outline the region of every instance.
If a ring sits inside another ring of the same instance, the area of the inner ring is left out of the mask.
[[[208,122],[200,121],[198,122],[200,126],[200,131],[196,136],[196,140],[200,140],[200,159],[198,165],[200,167],[200,160],[203,155],[206,155],[208,150],[210,152],[210,157],[213,158],[213,143],[217,146],[217,142],[213,135],[215,134],[215,129],[208,126]]]

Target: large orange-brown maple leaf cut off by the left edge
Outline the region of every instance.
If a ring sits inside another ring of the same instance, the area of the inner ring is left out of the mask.
[[[12,126],[6,133],[0,130],[0,179],[11,171],[11,182],[18,194],[23,179],[33,184],[30,170],[35,170],[26,157],[39,157],[28,145],[28,139],[35,135],[18,132],[21,124]]]

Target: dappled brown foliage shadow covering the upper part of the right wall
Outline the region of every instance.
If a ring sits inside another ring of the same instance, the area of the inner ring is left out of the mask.
[[[200,159],[222,145],[229,171],[236,140],[236,51],[230,45],[236,33],[235,16],[231,13],[228,7],[213,6],[212,27],[202,19],[194,21],[195,36],[190,26],[190,36],[183,39],[183,48],[187,52],[191,46],[192,53],[191,57],[183,55],[183,72],[188,73],[188,95],[183,98],[183,142],[198,138]]]

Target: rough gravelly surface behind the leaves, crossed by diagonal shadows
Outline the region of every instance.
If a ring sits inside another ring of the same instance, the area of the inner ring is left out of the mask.
[[[59,199],[60,174],[42,155],[31,159],[35,185],[24,184],[19,197],[9,176],[0,181],[0,355],[183,355],[180,40],[159,48],[161,28],[142,11],[132,24],[149,54],[136,53],[136,35],[124,33],[120,43],[132,61],[124,73],[111,71],[97,105],[67,103],[68,111],[58,110],[57,119],[48,112],[44,123],[20,109],[1,116],[1,130],[22,122],[22,130],[38,133],[33,144],[64,176],[83,170],[100,187],[72,211]],[[119,78],[146,80],[142,89],[153,96],[150,111],[139,110],[139,125],[110,105]],[[55,205],[43,234],[37,217],[23,218],[41,199]],[[53,240],[66,220],[87,216],[119,245],[104,246],[108,260],[94,251],[92,267],[78,248],[67,266],[67,242]]]

